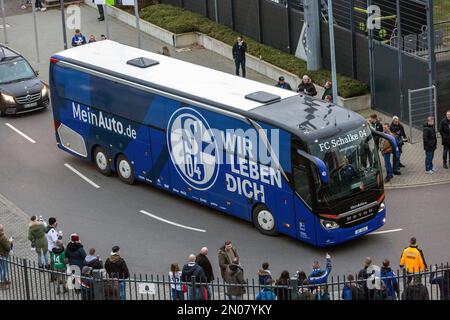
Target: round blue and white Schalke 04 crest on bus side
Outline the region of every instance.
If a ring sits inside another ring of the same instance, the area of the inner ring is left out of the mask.
[[[185,107],[172,114],[167,146],[175,168],[188,185],[197,190],[214,185],[219,173],[217,142],[199,112]]]

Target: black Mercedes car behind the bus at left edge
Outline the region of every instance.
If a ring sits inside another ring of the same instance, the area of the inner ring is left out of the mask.
[[[48,88],[27,60],[0,44],[0,116],[47,108]]]

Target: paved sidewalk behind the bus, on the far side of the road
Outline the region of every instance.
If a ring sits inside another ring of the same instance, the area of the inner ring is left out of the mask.
[[[105,34],[104,22],[97,21],[97,10],[86,5],[82,5],[81,9],[81,31],[88,38],[91,34],[97,38],[101,34]],[[45,82],[48,82],[48,68],[49,57],[61,50],[63,50],[63,37],[61,28],[61,12],[59,10],[49,10],[47,12],[37,13],[37,24],[39,29],[40,42],[40,63],[36,61],[36,49],[34,46],[34,30],[33,30],[33,16],[31,13],[7,17],[7,23],[11,26],[8,28],[9,45],[24,54],[33,66],[40,71],[40,77]],[[110,38],[112,40],[132,45],[136,45],[135,29],[114,19],[109,19]],[[67,29],[68,46],[71,47],[70,41],[73,35],[73,30]],[[3,35],[0,35],[2,39]],[[166,44],[151,37],[148,34],[141,33],[142,48],[145,50],[157,52],[161,51]],[[175,50],[169,47],[172,57],[195,63],[198,65],[210,67],[227,73],[234,73],[233,63],[211,51],[208,51],[199,46],[190,48],[183,48]],[[248,69],[247,76],[249,79],[263,82],[266,84],[273,84],[273,80]],[[364,117],[368,117],[374,110],[366,109],[360,112]],[[376,112],[381,114],[380,112]],[[391,117],[382,115],[383,121],[391,122]],[[438,119],[439,120],[439,119]],[[407,134],[409,129],[405,127]],[[415,134],[420,137],[420,132]],[[442,169],[442,146],[440,139],[438,141],[438,149],[435,152],[435,167],[438,172],[433,175],[425,174],[424,161],[425,154],[421,139],[418,143],[406,144],[403,147],[402,163],[406,168],[402,168],[401,176],[395,176],[391,182],[386,184],[387,188],[400,188],[409,186],[419,186],[427,184],[450,182],[450,170]],[[383,165],[384,166],[384,165]]]

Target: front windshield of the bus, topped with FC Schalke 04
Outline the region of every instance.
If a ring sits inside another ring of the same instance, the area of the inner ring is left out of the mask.
[[[360,127],[309,146],[327,166],[329,184],[316,188],[319,206],[334,207],[340,200],[380,185],[380,161],[370,129]]]

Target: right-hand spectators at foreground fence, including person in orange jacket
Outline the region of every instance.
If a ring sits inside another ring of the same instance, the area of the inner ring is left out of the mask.
[[[210,299],[211,286],[215,279],[211,263],[207,257],[208,249],[202,248],[196,256],[190,254],[188,262],[182,270],[177,263],[172,264],[169,279],[173,300],[183,300],[187,293],[187,299]],[[244,277],[244,268],[240,264],[240,257],[231,241],[226,241],[218,250],[218,264],[220,276],[226,284],[226,295],[230,300],[242,300],[246,293],[247,281]],[[384,259],[382,267],[376,273],[377,267],[372,259],[364,259],[363,268],[359,271],[357,279],[353,274],[347,276],[347,281],[342,288],[342,300],[428,300],[430,298],[427,287],[422,278],[428,266],[422,250],[418,247],[415,238],[410,239],[410,244],[402,252],[400,268],[405,270],[404,290],[400,295],[398,276],[390,266],[390,261]],[[322,268],[318,261],[312,264],[309,276],[305,271],[298,270],[291,277],[289,271],[281,272],[278,279],[274,279],[268,262],[262,264],[257,272],[258,285],[261,286],[256,300],[330,300],[328,290],[328,278],[332,270],[331,256],[326,255],[326,266]],[[450,299],[450,271],[445,270],[441,274],[436,273],[436,267],[432,267],[430,284],[439,286],[440,299]],[[379,282],[373,286],[368,283],[377,275]],[[291,286],[295,281],[297,289]],[[183,283],[186,283],[184,285]]]

